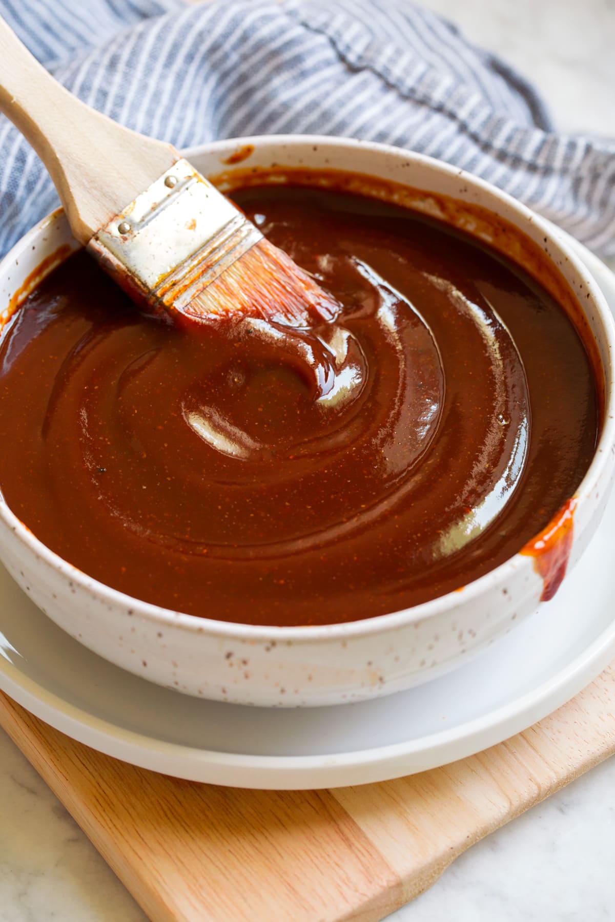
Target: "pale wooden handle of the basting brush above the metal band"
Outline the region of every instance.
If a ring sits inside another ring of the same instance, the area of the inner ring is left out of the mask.
[[[77,240],[86,243],[179,158],[77,100],[0,18],[0,112],[49,171]]]

